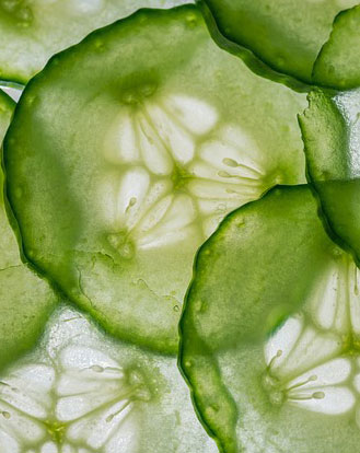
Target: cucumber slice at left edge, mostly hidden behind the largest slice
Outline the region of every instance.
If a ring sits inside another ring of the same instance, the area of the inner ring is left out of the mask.
[[[12,100],[0,91],[0,141],[13,108]],[[0,369],[35,344],[56,302],[48,284],[21,263],[0,190]]]

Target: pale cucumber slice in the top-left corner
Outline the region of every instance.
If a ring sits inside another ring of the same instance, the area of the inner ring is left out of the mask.
[[[0,79],[26,83],[48,59],[93,30],[139,8],[172,8],[186,0],[1,0]]]

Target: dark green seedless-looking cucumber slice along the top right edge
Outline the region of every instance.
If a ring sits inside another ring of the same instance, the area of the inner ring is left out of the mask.
[[[314,61],[335,16],[358,0],[201,0],[209,25],[272,69],[312,83]],[[225,43],[219,38],[224,46]],[[347,45],[347,44],[346,44]],[[229,46],[231,47],[231,45]],[[323,79],[321,79],[323,81]]]

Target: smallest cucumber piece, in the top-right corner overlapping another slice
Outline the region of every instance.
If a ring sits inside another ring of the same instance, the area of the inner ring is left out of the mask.
[[[332,35],[324,44],[314,65],[315,83],[337,90],[360,85],[359,26],[359,5],[341,12],[335,19]]]

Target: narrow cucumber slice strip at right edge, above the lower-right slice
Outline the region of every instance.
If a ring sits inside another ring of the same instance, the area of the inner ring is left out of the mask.
[[[316,91],[300,116],[309,177],[333,239],[360,263],[360,91]],[[326,184],[325,184],[326,183]]]

